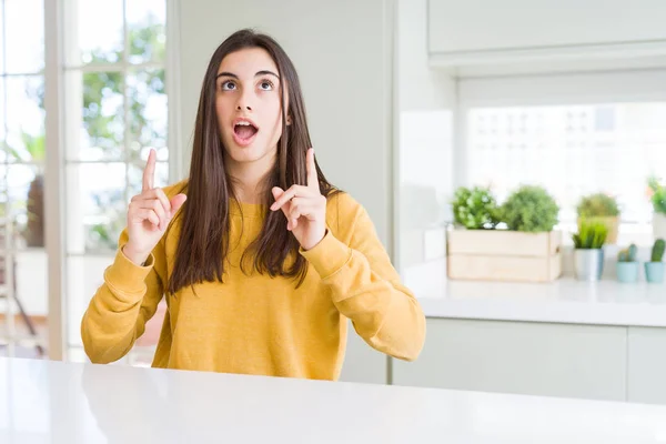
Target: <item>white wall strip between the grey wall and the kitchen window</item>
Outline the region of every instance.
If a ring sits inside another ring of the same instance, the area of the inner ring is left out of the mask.
[[[443,291],[442,221],[453,193],[455,80],[427,62],[427,1],[397,1],[396,262],[418,296]]]

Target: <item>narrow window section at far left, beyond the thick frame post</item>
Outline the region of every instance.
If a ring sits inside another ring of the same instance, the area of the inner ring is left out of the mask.
[[[44,11],[0,0],[0,355],[43,356]]]

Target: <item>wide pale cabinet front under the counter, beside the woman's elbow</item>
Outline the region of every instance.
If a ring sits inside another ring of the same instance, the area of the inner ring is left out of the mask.
[[[393,361],[393,383],[625,400],[626,329],[428,319],[416,362]]]

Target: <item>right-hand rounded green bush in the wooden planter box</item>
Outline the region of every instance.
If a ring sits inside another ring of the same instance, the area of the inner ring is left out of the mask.
[[[522,185],[501,208],[500,219],[513,231],[549,232],[557,224],[559,206],[548,192],[537,185]]]

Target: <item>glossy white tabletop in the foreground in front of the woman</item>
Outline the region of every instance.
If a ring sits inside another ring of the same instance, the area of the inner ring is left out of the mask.
[[[0,443],[666,443],[666,406],[0,359]]]

